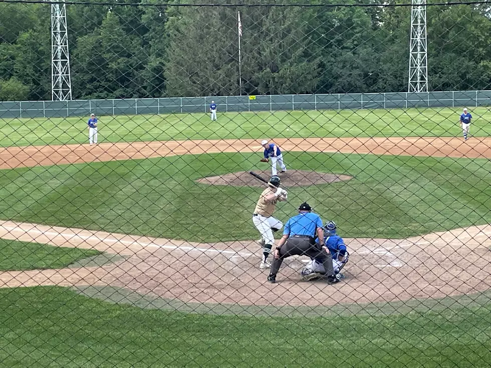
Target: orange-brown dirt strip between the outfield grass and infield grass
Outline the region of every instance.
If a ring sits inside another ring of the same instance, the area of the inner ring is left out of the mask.
[[[460,138],[278,138],[285,152],[491,158],[491,137]],[[0,148],[0,169],[143,159],[219,152],[260,152],[258,140],[162,141]]]

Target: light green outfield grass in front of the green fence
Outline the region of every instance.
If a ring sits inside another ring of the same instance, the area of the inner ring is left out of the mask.
[[[471,134],[491,135],[491,111],[471,109]],[[323,110],[100,117],[100,142],[221,138],[454,137],[460,109]],[[0,119],[1,147],[86,143],[87,119]],[[290,131],[286,129],[289,128]]]

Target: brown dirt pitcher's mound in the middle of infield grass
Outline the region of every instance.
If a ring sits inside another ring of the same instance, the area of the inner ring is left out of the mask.
[[[255,171],[255,173],[261,175],[261,177],[266,180],[269,180],[271,177],[271,170]],[[281,178],[281,185],[285,187],[306,187],[309,185],[329,184],[352,179],[352,177],[348,175],[336,175],[303,170],[288,170],[286,173],[278,174],[278,176]],[[265,185],[262,181],[249,174],[248,171],[240,171],[220,176],[209,176],[207,178],[198,179],[196,182],[208,185],[233,185],[237,187],[261,187]]]

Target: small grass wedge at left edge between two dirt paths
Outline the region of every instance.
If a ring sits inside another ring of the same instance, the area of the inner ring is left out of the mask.
[[[0,239],[0,271],[63,268],[82,258],[101,254],[95,249]]]

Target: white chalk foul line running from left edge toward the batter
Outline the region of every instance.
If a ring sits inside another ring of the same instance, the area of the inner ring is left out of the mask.
[[[157,247],[157,248],[170,249],[170,250],[178,249],[178,250],[183,250],[183,251],[199,251],[201,253],[233,254],[232,257],[242,257],[242,258],[250,257],[250,256],[254,255],[253,253],[236,252],[233,250],[198,248],[198,247],[179,246],[179,245],[159,245],[159,244],[155,244],[152,242],[143,242],[143,241],[137,241],[137,240],[129,241],[129,240],[116,239],[116,238],[112,238],[112,237],[107,237],[107,238],[101,239],[95,235],[89,235],[88,236],[88,235],[80,235],[80,234],[67,234],[67,233],[58,233],[58,232],[54,232],[54,231],[41,231],[41,230],[37,230],[37,229],[25,230],[19,226],[16,226],[16,227],[1,226],[1,227],[6,229],[7,231],[19,231],[19,230],[21,230],[24,233],[29,234],[29,235],[31,233],[35,233],[35,234],[40,234],[40,235],[46,235],[48,237],[62,236],[64,238],[67,238],[67,240],[71,240],[73,238],[78,237],[82,240],[97,240],[97,241],[102,242],[102,243],[110,242],[110,243],[121,243],[121,244],[127,244],[127,245],[135,245],[136,244],[136,245],[140,245],[142,247],[153,246],[153,247]],[[34,239],[34,237],[33,237],[33,239]],[[50,240],[53,240],[53,238]],[[232,257],[229,257],[229,258],[232,258]]]

